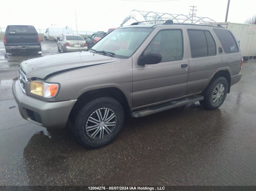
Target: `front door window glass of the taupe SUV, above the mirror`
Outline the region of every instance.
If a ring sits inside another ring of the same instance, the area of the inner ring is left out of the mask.
[[[161,62],[180,60],[183,53],[181,30],[160,31],[148,45],[144,55],[148,52],[160,53]]]

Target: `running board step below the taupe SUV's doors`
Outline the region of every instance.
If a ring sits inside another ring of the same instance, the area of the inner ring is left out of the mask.
[[[167,102],[167,103],[162,103],[160,105],[155,105],[155,106],[151,106],[151,107],[147,107],[145,109],[142,110],[138,110],[138,111],[134,111],[131,113],[132,117],[143,117],[146,115],[151,115],[153,113],[158,113],[161,111],[165,111],[171,108],[175,108],[175,107],[179,107],[182,105],[186,105],[188,103],[193,103],[196,101],[200,101],[203,100],[204,97],[201,95],[196,95],[196,96],[191,96],[191,97],[187,97],[184,99],[180,99],[180,100],[176,100],[176,101],[171,101],[171,102]]]

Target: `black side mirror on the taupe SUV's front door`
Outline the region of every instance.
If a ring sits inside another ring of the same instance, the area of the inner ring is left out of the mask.
[[[158,64],[162,61],[162,55],[158,52],[148,52],[144,56],[141,56],[138,60],[138,65],[145,64]]]

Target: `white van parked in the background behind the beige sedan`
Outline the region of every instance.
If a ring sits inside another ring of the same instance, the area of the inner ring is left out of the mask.
[[[63,34],[73,34],[71,27],[48,27],[45,31],[45,40],[58,41]]]

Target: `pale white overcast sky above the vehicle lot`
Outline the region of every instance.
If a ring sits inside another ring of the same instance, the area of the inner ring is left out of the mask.
[[[51,24],[76,28],[78,31],[107,31],[119,27],[133,9],[160,13],[189,14],[190,5],[197,6],[196,16],[224,22],[228,0],[12,0],[1,1],[0,26],[34,25],[46,29]],[[243,23],[256,14],[256,0],[231,0],[228,21]]]

